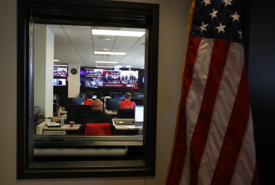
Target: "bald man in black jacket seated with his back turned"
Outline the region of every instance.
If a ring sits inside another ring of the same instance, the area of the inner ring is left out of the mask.
[[[87,125],[93,126],[93,125],[90,125],[89,123],[93,123],[93,124],[94,123],[110,123],[110,131],[111,131],[112,135],[115,135],[116,127],[113,125],[112,116],[106,114],[105,112],[102,112],[102,109],[103,109],[102,101],[99,99],[94,100],[91,105],[91,109],[92,109],[92,112],[90,114],[82,117],[82,123],[78,129],[78,134],[84,135],[84,133],[86,132],[85,135],[89,135],[89,134],[87,134],[86,127],[87,127]],[[106,134],[102,134],[102,135],[111,135],[111,134],[108,134],[108,132],[106,132]]]

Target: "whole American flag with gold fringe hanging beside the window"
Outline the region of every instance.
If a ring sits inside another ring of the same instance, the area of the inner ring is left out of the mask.
[[[237,0],[194,0],[165,184],[258,184]]]

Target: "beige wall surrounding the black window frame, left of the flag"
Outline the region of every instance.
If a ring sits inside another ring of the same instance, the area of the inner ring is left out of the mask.
[[[2,70],[0,129],[0,182],[1,184],[162,184],[170,158],[175,117],[181,94],[182,68],[186,50],[186,35],[189,10],[192,0],[136,0],[136,2],[159,3],[159,68],[157,105],[157,154],[155,177],[133,178],[86,178],[16,180],[16,74]],[[3,69],[16,70],[16,1],[3,1],[0,6],[0,56]],[[167,69],[171,77],[167,77]],[[9,78],[7,78],[9,77]],[[171,93],[169,101],[163,101]],[[7,98],[9,97],[9,98]],[[164,137],[165,136],[165,137]]]

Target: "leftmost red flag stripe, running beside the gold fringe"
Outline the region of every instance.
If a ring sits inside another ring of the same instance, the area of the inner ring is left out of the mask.
[[[180,100],[178,130],[174,145],[173,159],[171,161],[171,168],[167,179],[167,184],[179,184],[182,176],[182,169],[184,166],[184,158],[186,155],[186,99],[190,89],[193,68],[196,61],[196,55],[200,46],[200,37],[189,37],[189,43],[186,54],[186,62],[184,68],[182,96]]]

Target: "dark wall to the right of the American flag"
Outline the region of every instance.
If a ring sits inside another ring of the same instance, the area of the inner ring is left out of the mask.
[[[248,80],[260,184],[273,184],[275,148],[275,3],[252,0]]]

